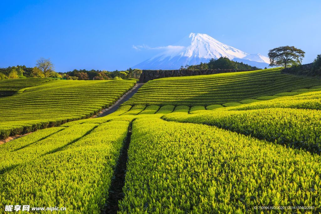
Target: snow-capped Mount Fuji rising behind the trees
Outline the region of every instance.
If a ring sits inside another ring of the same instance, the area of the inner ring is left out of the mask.
[[[270,59],[266,56],[248,54],[202,33],[191,33],[175,45],[152,49],[164,49],[164,51],[133,67],[149,70],[174,70],[179,69],[181,65],[207,63],[211,58],[218,59],[221,56],[258,68],[264,68],[270,64]]]

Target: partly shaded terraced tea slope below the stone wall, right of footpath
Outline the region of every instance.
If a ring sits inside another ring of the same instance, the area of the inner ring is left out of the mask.
[[[169,77],[148,81],[124,105],[222,105],[244,99],[277,98],[267,96],[317,85],[321,85],[320,79],[283,74],[280,68]]]

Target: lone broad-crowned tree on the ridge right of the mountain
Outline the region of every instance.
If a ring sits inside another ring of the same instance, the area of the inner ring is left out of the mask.
[[[282,46],[269,50],[270,58],[269,66],[282,66],[286,68],[288,65],[297,65],[302,63],[305,52],[294,46]]]

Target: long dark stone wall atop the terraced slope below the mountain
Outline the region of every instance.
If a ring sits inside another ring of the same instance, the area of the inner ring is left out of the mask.
[[[254,70],[237,70],[237,69],[211,69],[211,70],[143,70],[139,81],[140,83],[147,82],[154,79],[164,77],[182,77],[182,76],[196,76],[208,75],[216,73],[230,73],[240,71],[254,71]]]

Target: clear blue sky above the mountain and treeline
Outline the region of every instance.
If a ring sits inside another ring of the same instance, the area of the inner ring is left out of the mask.
[[[124,70],[206,33],[247,53],[295,46],[321,54],[321,1],[1,1],[0,67],[52,60],[57,72]]]

